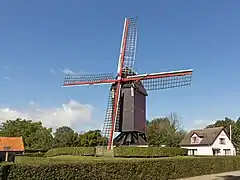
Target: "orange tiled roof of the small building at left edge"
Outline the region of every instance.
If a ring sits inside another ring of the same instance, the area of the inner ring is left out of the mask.
[[[22,137],[0,137],[0,151],[24,151]]]

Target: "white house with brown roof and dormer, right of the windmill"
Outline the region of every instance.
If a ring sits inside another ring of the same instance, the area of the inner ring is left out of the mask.
[[[236,155],[235,147],[223,127],[192,130],[180,142],[180,146],[193,156]]]

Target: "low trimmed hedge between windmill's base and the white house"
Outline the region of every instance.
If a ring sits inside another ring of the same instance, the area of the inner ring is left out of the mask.
[[[187,155],[187,150],[182,148],[161,147],[116,147],[115,157],[173,157]]]

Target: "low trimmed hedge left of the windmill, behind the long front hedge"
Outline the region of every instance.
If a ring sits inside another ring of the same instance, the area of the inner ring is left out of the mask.
[[[74,156],[94,156],[94,147],[66,147],[50,149],[45,153],[47,157],[59,156],[59,155],[74,155]]]

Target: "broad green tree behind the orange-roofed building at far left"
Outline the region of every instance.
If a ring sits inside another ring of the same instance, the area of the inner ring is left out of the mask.
[[[2,123],[0,136],[22,137],[25,148],[50,149],[52,146],[52,129],[43,127],[41,122],[17,118]]]

